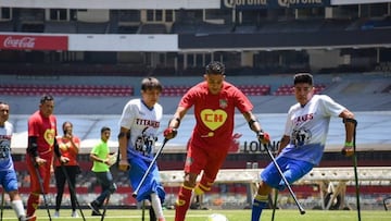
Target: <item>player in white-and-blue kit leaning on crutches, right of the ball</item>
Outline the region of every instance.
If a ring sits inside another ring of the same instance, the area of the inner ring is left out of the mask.
[[[353,155],[354,114],[327,95],[314,95],[313,76],[300,73],[293,77],[298,103],[288,112],[285,133],[276,158],[283,175],[291,184],[308,173],[321,159],[331,116],[343,119],[345,143],[342,150]],[[251,221],[258,221],[268,202],[272,188],[285,188],[274,163],[261,173],[261,183],[253,199]]]

